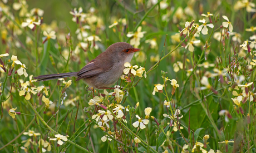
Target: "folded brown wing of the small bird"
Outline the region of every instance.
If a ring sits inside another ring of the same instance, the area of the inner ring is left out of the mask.
[[[82,78],[88,78],[92,76],[99,75],[100,73],[111,70],[114,62],[109,59],[95,58],[91,62],[87,63],[80,71],[77,72],[76,81],[81,80]]]

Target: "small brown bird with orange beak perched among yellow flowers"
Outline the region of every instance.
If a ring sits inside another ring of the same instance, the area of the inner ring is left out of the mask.
[[[75,76],[77,77],[76,81],[83,79],[93,88],[108,88],[114,85],[122,75],[125,62],[131,62],[134,52],[138,51],[140,49],[132,47],[129,43],[117,42],[109,46],[105,52],[102,52],[95,59],[88,62],[78,72],[42,75],[34,78],[37,81],[47,81]]]

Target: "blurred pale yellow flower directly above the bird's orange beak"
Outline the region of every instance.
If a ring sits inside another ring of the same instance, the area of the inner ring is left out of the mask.
[[[140,26],[137,28],[137,31],[135,33],[128,32],[126,35],[129,38],[132,37],[130,40],[130,44],[134,45],[135,47],[138,47],[140,45],[140,39],[144,37],[144,33],[146,33],[145,31],[141,32],[141,29],[142,27]]]

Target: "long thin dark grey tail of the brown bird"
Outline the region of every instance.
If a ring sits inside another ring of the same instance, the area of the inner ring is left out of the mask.
[[[77,76],[77,72],[42,75],[42,76],[34,77],[34,79],[37,79],[37,81],[48,81],[48,80],[55,80],[58,78],[65,78],[65,77],[72,77],[72,76]]]

